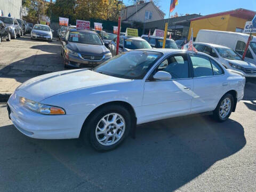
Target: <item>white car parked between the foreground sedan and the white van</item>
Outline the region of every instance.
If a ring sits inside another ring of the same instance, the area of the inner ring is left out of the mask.
[[[194,42],[193,45],[197,51],[209,54],[217,59],[225,68],[236,70],[245,77],[256,77],[256,65],[242,60],[240,55],[229,47],[199,42]],[[188,49],[188,44],[184,45],[183,49]]]

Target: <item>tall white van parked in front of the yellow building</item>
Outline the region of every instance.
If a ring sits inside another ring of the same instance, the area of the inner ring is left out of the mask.
[[[214,43],[218,45],[227,46],[235,50],[242,57],[248,38],[249,35],[243,33],[201,29],[199,30],[196,36],[196,42]],[[244,60],[256,64],[255,36],[253,36],[253,39],[250,43],[250,46],[248,47]]]

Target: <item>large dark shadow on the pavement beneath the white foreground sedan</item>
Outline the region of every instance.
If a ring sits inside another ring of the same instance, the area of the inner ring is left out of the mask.
[[[0,140],[0,189],[14,180],[21,191],[173,191],[246,144],[238,122],[202,116],[140,125],[137,139],[107,153],[80,139],[31,139],[13,125],[0,127]]]

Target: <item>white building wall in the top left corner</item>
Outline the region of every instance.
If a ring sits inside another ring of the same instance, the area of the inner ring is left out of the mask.
[[[20,19],[20,10],[22,0],[0,0],[0,10],[3,10],[4,16],[11,13],[11,17]]]

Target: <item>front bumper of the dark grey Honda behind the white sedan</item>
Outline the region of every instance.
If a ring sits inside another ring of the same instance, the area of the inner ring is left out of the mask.
[[[71,67],[76,67],[76,68],[94,68],[101,63],[107,61],[110,58],[104,58],[102,60],[86,60],[82,59],[81,55],[79,54],[78,57],[74,55],[67,55],[65,54],[65,65],[71,66]]]

